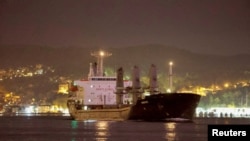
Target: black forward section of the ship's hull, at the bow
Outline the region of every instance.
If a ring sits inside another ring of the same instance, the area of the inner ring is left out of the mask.
[[[130,120],[166,120],[183,118],[192,120],[200,95],[171,93],[147,96],[132,106]]]

